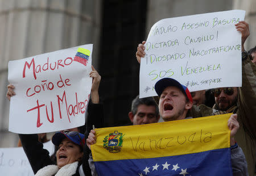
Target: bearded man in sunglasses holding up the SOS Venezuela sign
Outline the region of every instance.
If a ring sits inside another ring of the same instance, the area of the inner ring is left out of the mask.
[[[256,65],[251,62],[243,47],[245,40],[250,35],[249,24],[241,21],[235,26],[237,31],[242,34],[242,87],[215,89],[216,104],[214,104],[213,108],[204,105],[193,106],[188,114],[191,114],[193,118],[197,118],[229,112],[236,113],[237,120],[240,123],[240,128],[236,133],[236,140],[245,153],[249,175],[253,176],[256,164]],[[145,43],[146,41],[143,41],[137,48],[136,57],[139,63],[141,63],[141,57],[146,54],[144,52]],[[157,98],[156,102],[158,102]]]

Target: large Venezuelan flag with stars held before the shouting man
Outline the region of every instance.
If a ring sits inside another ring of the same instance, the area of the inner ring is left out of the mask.
[[[98,175],[232,175],[231,114],[96,129]]]

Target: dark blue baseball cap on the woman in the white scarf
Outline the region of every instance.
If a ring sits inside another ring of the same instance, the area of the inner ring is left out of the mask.
[[[84,135],[77,131],[56,132],[55,135],[52,136],[52,143],[59,146],[61,141],[65,138],[71,140],[77,145],[84,146],[85,144]]]

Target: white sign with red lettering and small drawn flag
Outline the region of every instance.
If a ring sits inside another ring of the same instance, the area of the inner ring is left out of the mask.
[[[92,44],[10,61],[9,131],[44,133],[85,124]]]

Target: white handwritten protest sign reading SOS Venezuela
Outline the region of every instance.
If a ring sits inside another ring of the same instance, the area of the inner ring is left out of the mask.
[[[174,78],[190,91],[242,86],[241,32],[245,11],[162,19],[152,26],[141,58],[139,97],[155,96],[159,79]]]

